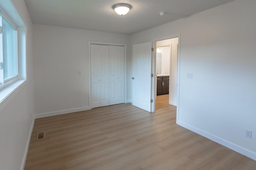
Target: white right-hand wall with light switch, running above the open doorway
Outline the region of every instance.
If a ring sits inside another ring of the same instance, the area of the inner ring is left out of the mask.
[[[136,33],[131,42],[180,33],[177,123],[256,160],[255,8],[255,0],[235,0]]]

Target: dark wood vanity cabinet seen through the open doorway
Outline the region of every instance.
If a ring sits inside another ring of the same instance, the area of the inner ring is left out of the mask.
[[[169,76],[156,78],[156,95],[169,94]]]

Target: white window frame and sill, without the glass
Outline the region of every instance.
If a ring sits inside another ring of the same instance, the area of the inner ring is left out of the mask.
[[[4,18],[14,27],[16,27],[17,35],[17,76],[14,76],[4,83],[0,84],[0,111],[16,96],[16,94],[25,86],[27,73],[26,73],[26,38],[27,26],[20,17],[18,11],[13,6],[12,2],[6,0],[5,3],[0,4],[0,11],[4,14]],[[2,22],[2,16],[0,17]],[[0,36],[2,37],[2,36]],[[0,41],[3,41],[0,38]],[[0,45],[0,53],[3,47]],[[1,73],[2,70],[0,70]],[[3,72],[1,73],[3,74]]]

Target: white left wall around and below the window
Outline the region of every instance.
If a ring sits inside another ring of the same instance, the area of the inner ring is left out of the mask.
[[[0,169],[23,168],[23,159],[30,139],[34,118],[34,83],[32,56],[32,22],[24,0],[11,0],[27,26],[26,64],[27,81],[10,96],[8,104],[0,110]],[[0,0],[10,3],[9,0]],[[31,117],[30,117],[31,113]]]

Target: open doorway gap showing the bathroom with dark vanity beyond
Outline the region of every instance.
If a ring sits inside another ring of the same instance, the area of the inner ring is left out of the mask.
[[[174,106],[177,106],[178,42],[178,37],[156,41],[155,55],[155,99]]]

